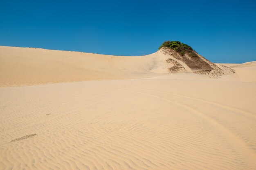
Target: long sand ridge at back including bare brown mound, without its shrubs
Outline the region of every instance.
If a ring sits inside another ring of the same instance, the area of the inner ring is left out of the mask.
[[[0,46],[0,61],[0,86],[146,78],[173,72],[218,77],[234,72],[199,54],[181,56],[169,48],[146,56],[127,57]]]

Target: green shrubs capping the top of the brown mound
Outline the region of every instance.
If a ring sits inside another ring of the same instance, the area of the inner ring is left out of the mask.
[[[176,52],[180,53],[180,55],[184,56],[184,54],[189,54],[191,57],[197,57],[197,54],[191,48],[191,46],[181,43],[180,41],[164,41],[161,46],[159,46],[158,50],[162,47],[168,47]]]

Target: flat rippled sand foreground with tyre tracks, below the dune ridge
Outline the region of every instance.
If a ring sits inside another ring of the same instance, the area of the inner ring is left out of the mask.
[[[0,88],[0,167],[256,169],[255,87],[163,78]]]

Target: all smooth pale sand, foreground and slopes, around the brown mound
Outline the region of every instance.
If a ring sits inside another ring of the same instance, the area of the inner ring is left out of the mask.
[[[256,62],[162,61],[0,46],[0,169],[255,170]]]

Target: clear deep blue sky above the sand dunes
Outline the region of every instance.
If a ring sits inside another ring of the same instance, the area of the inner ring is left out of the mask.
[[[0,45],[144,55],[165,40],[213,62],[256,60],[256,0],[0,0]]]

